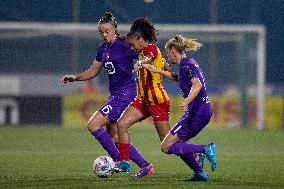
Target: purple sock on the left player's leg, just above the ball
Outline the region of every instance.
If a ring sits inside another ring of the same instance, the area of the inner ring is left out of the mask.
[[[94,137],[99,141],[99,143],[114,161],[119,160],[119,151],[115,147],[111,136],[104,128],[98,129],[97,131],[93,132],[92,135],[94,135]]]

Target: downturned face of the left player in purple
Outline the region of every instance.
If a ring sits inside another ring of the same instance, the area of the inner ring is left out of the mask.
[[[116,38],[115,28],[111,23],[103,23],[98,26],[101,38],[105,43],[112,43]]]

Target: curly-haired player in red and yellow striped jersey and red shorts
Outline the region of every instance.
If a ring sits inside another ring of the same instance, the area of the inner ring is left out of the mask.
[[[118,121],[118,140],[121,161],[115,166],[116,171],[131,171],[129,161],[130,138],[128,128],[138,121],[152,116],[155,128],[162,141],[169,132],[170,101],[162,85],[163,76],[142,67],[142,64],[152,64],[159,69],[169,70],[163,60],[162,53],[156,46],[156,29],[146,18],[136,19],[127,34],[129,44],[140,52],[136,65],[137,96],[125,110]],[[153,173],[152,164],[142,168],[133,177],[142,178]]]

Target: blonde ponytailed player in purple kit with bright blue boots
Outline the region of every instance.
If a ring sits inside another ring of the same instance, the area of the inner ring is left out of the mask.
[[[205,87],[205,78],[201,68],[193,58],[187,58],[186,51],[197,50],[201,44],[193,39],[176,35],[170,39],[165,50],[169,60],[178,64],[178,74],[159,70],[153,65],[143,65],[152,72],[158,72],[172,80],[177,80],[185,100],[180,107],[184,111],[178,123],[170,130],[161,143],[166,154],[175,154],[194,171],[189,181],[207,181],[209,177],[196,161],[194,153],[204,153],[210,161],[212,171],[216,170],[216,145],[189,144],[210,121],[212,109]]]

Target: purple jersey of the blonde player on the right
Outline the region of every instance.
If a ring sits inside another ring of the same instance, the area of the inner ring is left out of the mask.
[[[192,87],[190,80],[193,78],[200,80],[202,88],[194,100],[189,103],[188,110],[190,113],[211,114],[210,102],[205,87],[205,78],[202,71],[193,58],[183,58],[178,65],[178,82],[184,98],[187,98],[190,93]]]

